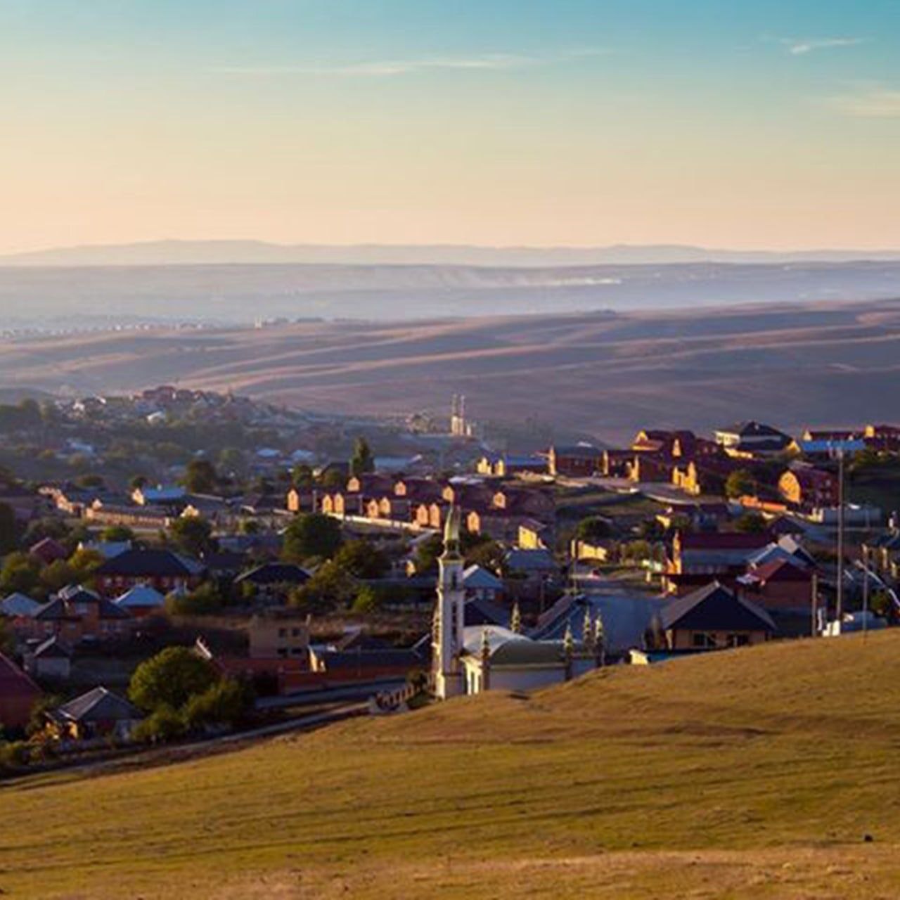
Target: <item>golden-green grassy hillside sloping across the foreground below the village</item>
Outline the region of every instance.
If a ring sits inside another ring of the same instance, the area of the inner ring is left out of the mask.
[[[900,893],[900,634],[0,788],[7,896]],[[871,835],[872,842],[864,841]]]

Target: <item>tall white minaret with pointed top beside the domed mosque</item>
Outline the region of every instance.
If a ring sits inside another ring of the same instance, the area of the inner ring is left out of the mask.
[[[463,554],[459,550],[462,514],[450,507],[444,528],[444,553],[437,560],[437,608],[431,656],[435,676],[435,695],[446,700],[464,693],[463,624],[465,590]]]

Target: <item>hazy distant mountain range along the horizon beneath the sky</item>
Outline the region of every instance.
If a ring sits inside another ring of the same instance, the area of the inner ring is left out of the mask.
[[[660,266],[680,263],[788,264],[900,261],[900,250],[729,250],[677,244],[611,247],[348,246],[258,240],[156,240],[53,247],[0,256],[0,266]]]

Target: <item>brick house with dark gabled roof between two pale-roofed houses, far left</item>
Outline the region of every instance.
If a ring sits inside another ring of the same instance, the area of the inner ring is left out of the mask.
[[[56,635],[68,645],[124,635],[131,625],[127,609],[87,590],[68,585],[23,620],[22,631],[32,638]]]

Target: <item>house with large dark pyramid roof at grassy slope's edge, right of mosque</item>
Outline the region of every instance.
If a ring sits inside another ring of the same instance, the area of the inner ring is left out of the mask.
[[[718,650],[761,644],[775,632],[769,613],[718,581],[671,600],[660,612],[665,650]]]

